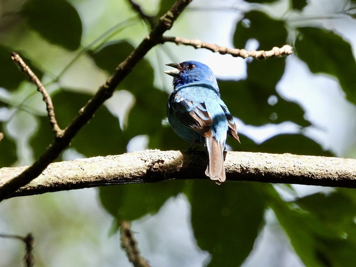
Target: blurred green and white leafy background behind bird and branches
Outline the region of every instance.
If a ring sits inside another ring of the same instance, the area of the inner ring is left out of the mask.
[[[136,0],[157,21],[172,0]],[[292,56],[234,58],[166,43],[153,48],[58,161],[144,148],[185,150],[168,125],[166,63],[211,67],[241,144],[229,150],[356,157],[356,1],[194,0],[166,32]],[[0,0],[0,167],[31,164],[54,136],[42,96],[11,61],[16,51],[51,93],[64,128],[148,33],[125,0]],[[177,180],[12,198],[0,233],[35,238],[36,266],[131,266],[120,248],[132,222],[152,266],[354,266],[356,193],[303,185]],[[24,245],[0,239],[0,266]]]

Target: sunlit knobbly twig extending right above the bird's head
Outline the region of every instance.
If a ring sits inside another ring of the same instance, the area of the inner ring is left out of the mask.
[[[281,57],[281,56],[288,56],[293,53],[293,48],[290,45],[284,45],[281,48],[273,47],[272,50],[269,51],[256,51],[256,50],[245,50],[245,49],[231,49],[228,47],[218,46],[214,43],[206,43],[199,39],[185,39],[180,37],[169,37],[163,36],[162,43],[165,42],[172,42],[176,43],[177,45],[185,45],[185,46],[193,46],[194,48],[205,48],[209,49],[212,52],[218,52],[220,54],[230,54],[233,57],[254,57],[258,59],[263,58],[270,58],[270,57]]]

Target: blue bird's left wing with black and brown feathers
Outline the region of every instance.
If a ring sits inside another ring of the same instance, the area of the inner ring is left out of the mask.
[[[206,110],[204,102],[182,99],[176,95],[174,101],[171,101],[171,108],[178,120],[185,126],[204,137],[213,135],[210,130],[213,119]]]

